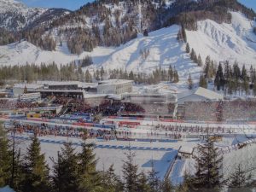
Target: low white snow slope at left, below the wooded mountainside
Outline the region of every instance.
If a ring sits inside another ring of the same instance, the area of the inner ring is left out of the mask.
[[[0,65],[25,65],[28,63],[40,64],[52,63],[67,64],[84,58],[85,55],[93,56],[95,61],[103,61],[113,49],[98,47],[93,52],[84,52],[81,55],[72,55],[67,49],[67,44],[57,47],[56,51],[46,51],[39,49],[26,41],[0,46]]]

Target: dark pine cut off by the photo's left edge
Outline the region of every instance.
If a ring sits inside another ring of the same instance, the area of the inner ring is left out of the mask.
[[[7,132],[0,125],[0,188],[10,184],[12,155]]]

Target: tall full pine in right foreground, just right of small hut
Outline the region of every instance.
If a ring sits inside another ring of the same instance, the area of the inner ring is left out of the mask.
[[[223,186],[223,175],[221,173],[223,156],[212,140],[205,144],[199,144],[195,158],[195,180],[194,186],[201,191],[219,191]]]

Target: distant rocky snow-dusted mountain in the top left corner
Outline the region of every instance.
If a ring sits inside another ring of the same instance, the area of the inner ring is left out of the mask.
[[[61,15],[67,15],[66,9],[28,8],[15,0],[0,0],[0,28],[19,32],[24,28],[49,22]],[[51,15],[49,18],[49,14]],[[48,17],[46,17],[48,15]]]

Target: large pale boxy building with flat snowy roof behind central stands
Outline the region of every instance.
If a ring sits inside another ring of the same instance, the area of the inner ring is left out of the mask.
[[[98,94],[122,94],[132,91],[132,80],[109,79],[100,81],[97,87]]]

